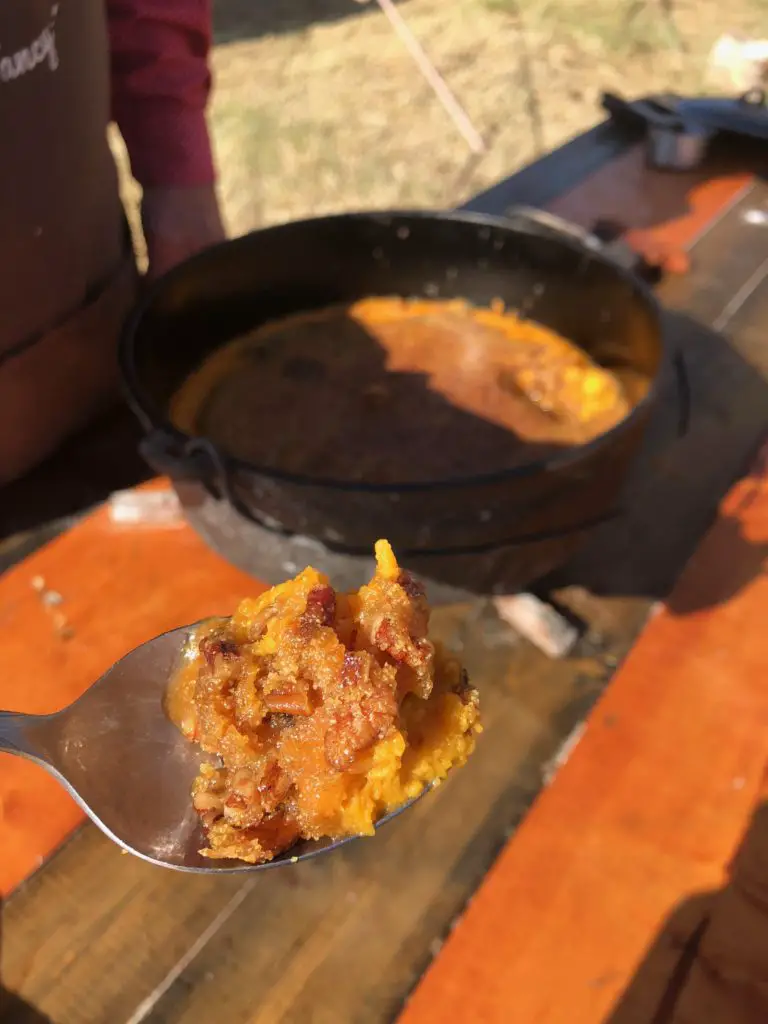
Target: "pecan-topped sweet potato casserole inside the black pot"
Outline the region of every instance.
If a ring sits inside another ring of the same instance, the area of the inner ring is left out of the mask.
[[[587,443],[645,388],[501,303],[377,297],[228,342],[182,384],[171,418],[266,470],[401,483]]]

